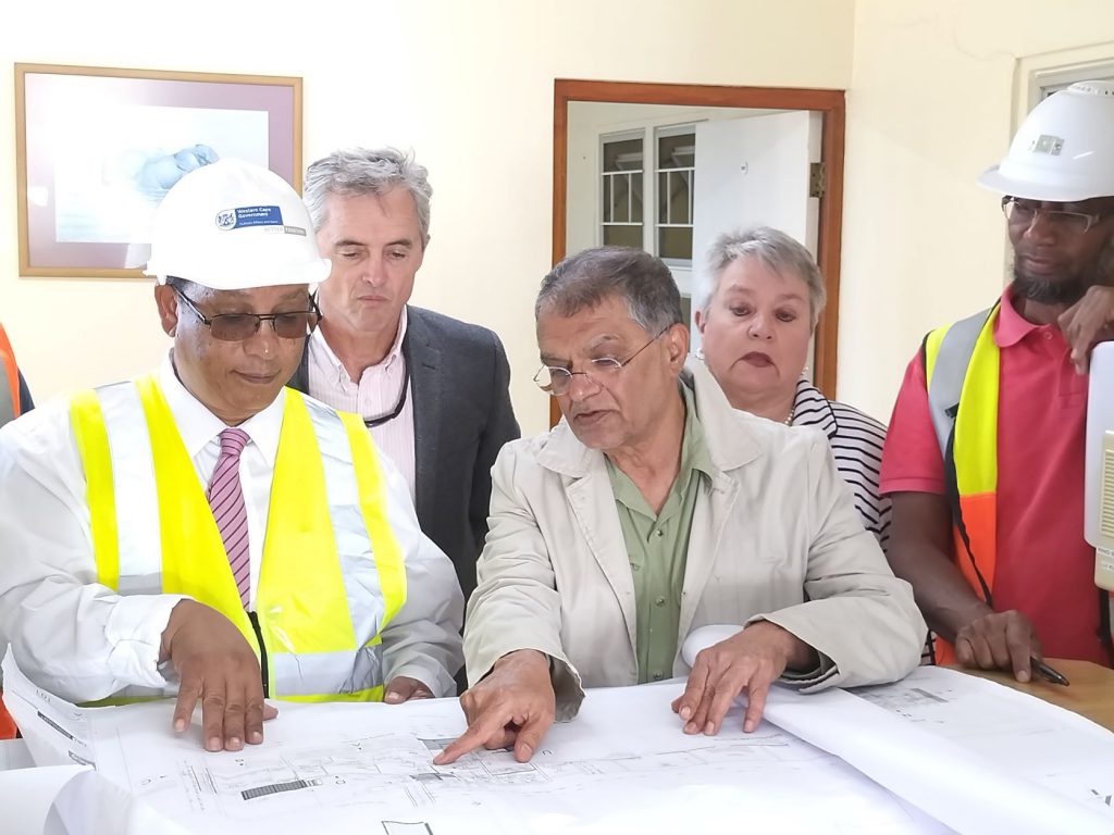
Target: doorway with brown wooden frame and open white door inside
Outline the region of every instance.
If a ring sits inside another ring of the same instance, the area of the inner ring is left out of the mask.
[[[812,379],[833,397],[843,141],[842,90],[557,79],[554,263],[603,243],[642,246],[687,297],[714,234],[779,226],[812,250],[824,276]],[[771,185],[774,158],[791,173],[788,187]],[[741,189],[759,199],[740,200]],[[707,218],[727,206],[730,222],[715,228]],[[550,400],[550,423],[559,419]]]

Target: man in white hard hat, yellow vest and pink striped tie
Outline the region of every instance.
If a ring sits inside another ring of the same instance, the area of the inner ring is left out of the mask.
[[[0,431],[0,637],[78,701],[202,704],[263,739],[265,698],[452,691],[463,600],[363,423],[284,389],[329,274],[297,194],[224,160],[170,189],[147,273],[153,374]]]

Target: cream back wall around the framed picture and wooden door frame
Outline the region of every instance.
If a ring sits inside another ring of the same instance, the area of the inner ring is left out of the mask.
[[[414,301],[499,332],[534,433],[548,425],[530,377],[532,299],[550,266],[554,78],[846,88],[852,10],[852,0],[282,0],[198,13],[153,0],[21,3],[20,23],[0,36],[0,193],[16,190],[12,62],[302,76],[306,161],[390,143],[430,168],[432,243]],[[39,397],[158,361],[166,340],[145,282],[18,277],[13,197],[0,202],[0,320]]]

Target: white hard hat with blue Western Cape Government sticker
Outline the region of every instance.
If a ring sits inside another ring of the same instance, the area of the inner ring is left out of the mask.
[[[317,252],[302,198],[277,174],[238,159],[197,168],[155,214],[144,269],[213,289],[317,284],[329,261]]]

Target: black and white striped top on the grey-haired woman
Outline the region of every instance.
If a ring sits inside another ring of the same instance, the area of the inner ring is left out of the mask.
[[[878,538],[882,551],[890,544],[890,499],[878,494],[886,426],[858,409],[828,400],[808,380],[797,383],[794,426],[812,426],[828,435],[836,466],[854,493],[862,527]]]

